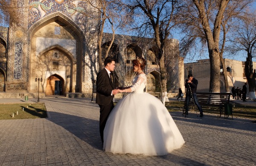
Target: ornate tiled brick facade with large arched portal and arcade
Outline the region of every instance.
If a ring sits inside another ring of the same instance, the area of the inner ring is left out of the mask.
[[[10,24],[9,28],[0,27],[0,92],[35,97],[38,92],[35,78],[40,78],[41,97],[91,93],[92,80],[99,71],[99,22],[86,16],[98,17],[97,11],[76,0],[19,0],[17,7],[19,23]],[[104,34],[103,54],[111,36]],[[167,91],[177,92],[182,86],[183,60],[176,55],[177,50],[171,49],[178,46],[177,40],[169,40],[167,46],[166,54],[171,57],[167,67]],[[131,60],[142,56],[147,60],[147,91],[160,91],[155,50],[152,39],[116,35],[109,53],[116,58],[116,86],[131,82],[134,74]]]

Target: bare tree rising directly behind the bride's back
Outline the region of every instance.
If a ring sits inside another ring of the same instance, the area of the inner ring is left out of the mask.
[[[162,92],[165,92],[167,73],[164,48],[171,37],[171,29],[177,25],[176,18],[182,3],[177,0],[130,0],[125,5],[128,7],[128,16],[133,17],[130,24],[132,30],[140,37],[155,40]]]

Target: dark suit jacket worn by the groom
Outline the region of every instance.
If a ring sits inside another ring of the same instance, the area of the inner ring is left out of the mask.
[[[113,99],[111,95],[113,89],[113,83],[110,80],[107,70],[104,68],[97,75],[96,103],[104,106],[108,105]]]

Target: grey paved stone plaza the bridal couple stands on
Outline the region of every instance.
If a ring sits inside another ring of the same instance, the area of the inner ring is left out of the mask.
[[[34,102],[37,99],[3,99]],[[0,120],[1,166],[251,166],[256,165],[256,123],[171,112],[185,140],[165,156],[102,151],[99,106],[90,99],[44,98],[48,118]]]

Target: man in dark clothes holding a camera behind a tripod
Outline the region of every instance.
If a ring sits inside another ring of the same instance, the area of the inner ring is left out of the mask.
[[[185,114],[188,114],[189,112],[189,101],[192,98],[192,100],[194,100],[195,105],[198,107],[198,110],[200,112],[200,117],[203,117],[203,110],[201,105],[198,103],[198,99],[196,96],[196,89],[197,89],[197,85],[198,85],[198,80],[196,80],[195,78],[193,78],[192,74],[188,75],[188,80],[186,80],[185,83],[185,87],[186,87],[186,111]]]

